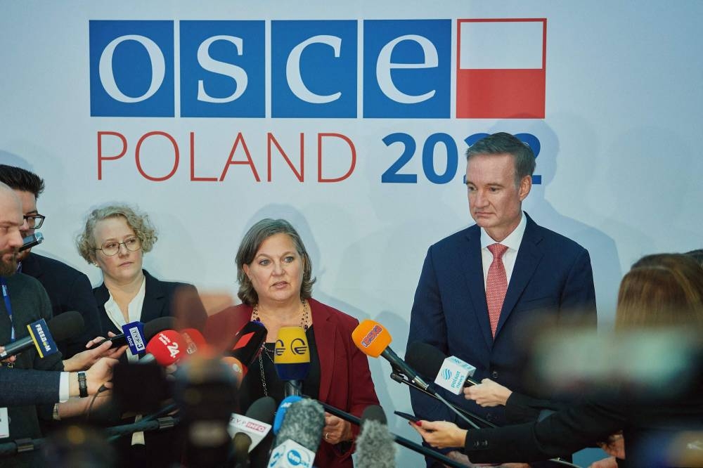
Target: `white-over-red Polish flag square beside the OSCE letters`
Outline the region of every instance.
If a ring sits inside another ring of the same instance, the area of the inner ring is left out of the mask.
[[[457,118],[544,118],[546,18],[458,20],[457,40]]]

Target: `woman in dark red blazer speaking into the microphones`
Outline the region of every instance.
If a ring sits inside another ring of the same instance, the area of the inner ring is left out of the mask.
[[[254,224],[242,240],[236,262],[238,296],[243,304],[211,316],[205,337],[226,346],[248,321],[259,320],[266,326],[264,351],[240,387],[240,412],[262,396],[273,396],[278,402],[283,399],[273,349],[280,327],[290,326],[302,327],[308,339],[311,363],[302,384],[304,394],[359,417],[368,405],[378,405],[368,358],[352,342],[359,321],[311,298],[315,280],[310,257],[290,223],[263,219]],[[315,466],[352,467],[358,432],[358,427],[325,413]]]

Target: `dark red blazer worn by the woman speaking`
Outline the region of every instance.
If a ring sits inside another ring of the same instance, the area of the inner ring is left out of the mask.
[[[368,358],[352,342],[352,331],[359,325],[359,320],[315,299],[308,299],[308,302],[320,360],[319,399],[361,417],[367,406],[378,405],[378,397],[368,370]],[[228,307],[209,317],[205,338],[215,346],[226,346],[251,316],[252,307],[245,304]],[[352,424],[352,431],[356,437],[359,427]],[[353,451],[352,446],[342,453],[323,439],[314,464],[324,468],[353,467]]]

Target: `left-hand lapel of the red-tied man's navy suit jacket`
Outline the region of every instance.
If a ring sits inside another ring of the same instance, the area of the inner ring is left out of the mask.
[[[467,289],[471,296],[475,317],[484,337],[486,346],[493,346],[491,322],[488,318],[488,305],[486,304],[486,287],[483,279],[483,263],[481,261],[481,230],[474,225],[466,230],[467,245],[460,249],[461,268],[464,272]]]

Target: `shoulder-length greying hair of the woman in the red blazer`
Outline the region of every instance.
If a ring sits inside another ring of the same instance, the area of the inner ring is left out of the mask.
[[[251,264],[254,257],[259,252],[259,247],[262,246],[264,240],[272,235],[286,234],[293,241],[298,255],[303,261],[303,282],[300,287],[300,299],[309,299],[312,296],[312,285],[315,278],[312,278],[312,262],[310,256],[305,249],[300,235],[297,230],[290,225],[285,219],[266,218],[257,222],[247,230],[242,242],[237,251],[237,281],[239,282],[239,291],[237,295],[247,306],[254,306],[259,302],[259,294],[254,290],[254,285],[249,277],[244,273],[244,266]]]

